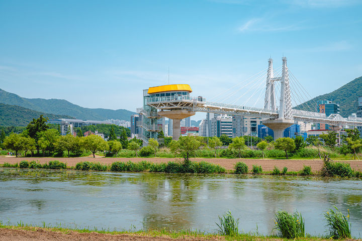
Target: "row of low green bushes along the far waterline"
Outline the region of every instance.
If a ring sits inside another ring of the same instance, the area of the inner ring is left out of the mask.
[[[37,161],[28,162],[26,160],[20,163],[4,163],[2,167],[6,168],[29,168],[29,169],[75,169],[82,171],[111,171],[111,172],[163,172],[163,173],[234,173],[234,174],[268,174],[268,175],[289,175],[289,176],[310,176],[318,175],[323,177],[342,177],[342,178],[362,178],[362,172],[353,170],[348,163],[324,161],[321,171],[313,173],[310,166],[304,166],[300,171],[288,171],[287,167],[279,170],[275,167],[272,171],[263,171],[261,166],[253,165],[251,171],[243,162],[237,162],[234,170],[227,171],[220,165],[201,161],[190,160],[170,161],[167,163],[152,163],[148,161],[141,162],[114,162],[110,165],[104,165],[99,162],[78,162],[75,167],[68,167],[66,163],[58,160],[50,161],[46,164],[40,164]]]

